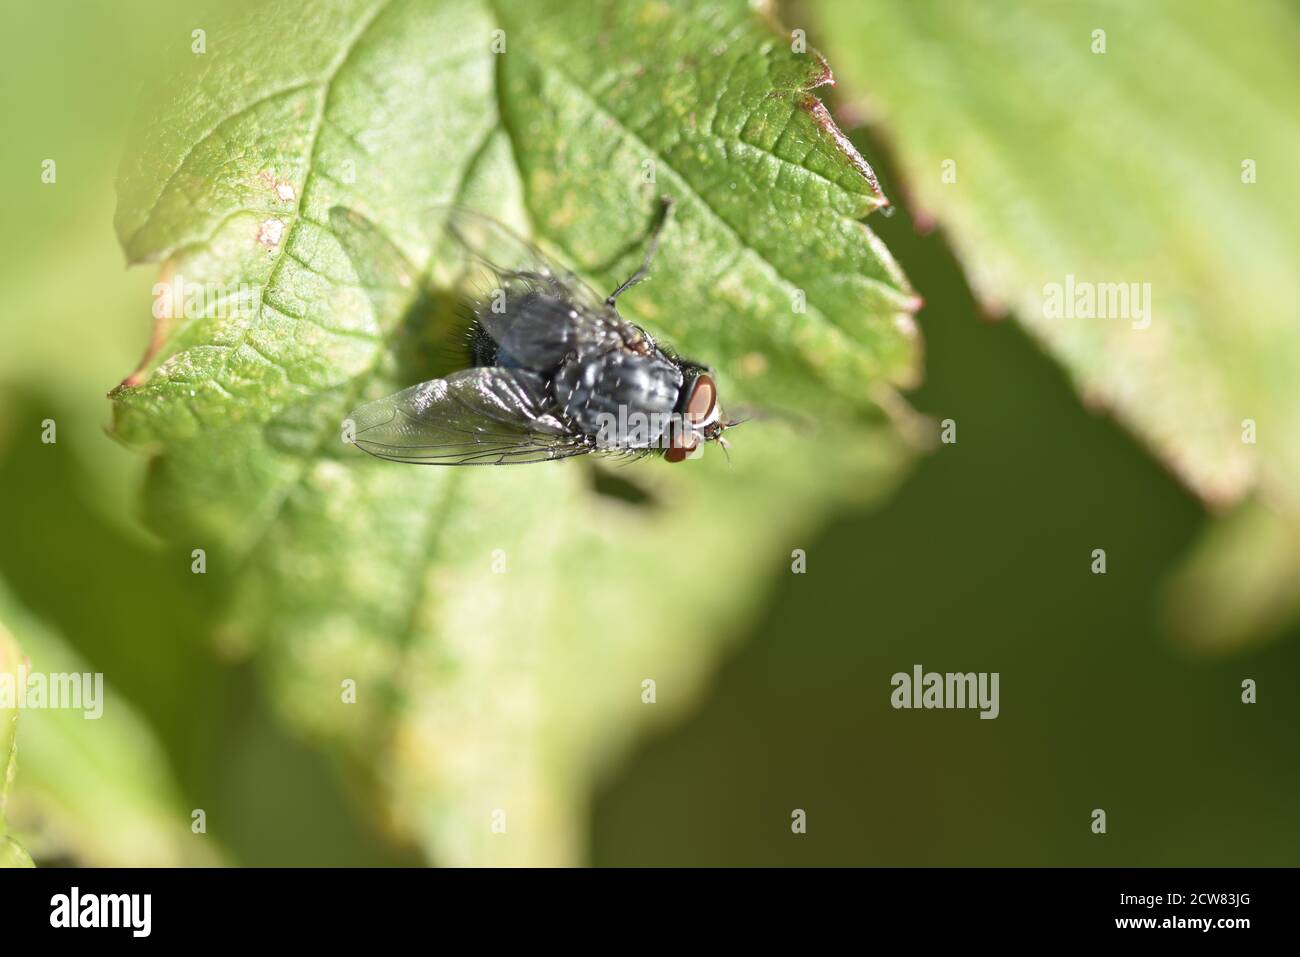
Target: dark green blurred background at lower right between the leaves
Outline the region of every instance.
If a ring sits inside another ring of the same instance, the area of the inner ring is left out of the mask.
[[[1164,638],[1160,589],[1202,508],[979,316],[940,234],[874,228],[926,294],[910,398],[958,442],[779,579],[708,703],[607,783],[594,861],[1295,866],[1300,633],[1218,659]],[[889,676],[915,663],[1000,671],[1000,716],[893,710]]]

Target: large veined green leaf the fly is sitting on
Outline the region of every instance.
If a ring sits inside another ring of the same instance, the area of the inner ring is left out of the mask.
[[[237,577],[226,642],[386,819],[439,861],[580,861],[601,770],[690,706],[755,583],[909,459],[881,407],[915,378],[918,300],[858,221],[884,198],[812,94],[829,74],[737,0],[285,4],[208,49],[144,114],[117,228],[251,308],[162,320],[114,393],[117,434],[159,456],[151,518]],[[422,267],[430,207],[465,203],[612,289],[662,194],[653,281],[620,307],[724,400],[816,434],[755,423],[731,468],[614,472],[341,441],[361,399],[432,377],[447,326],[351,261],[330,209]]]

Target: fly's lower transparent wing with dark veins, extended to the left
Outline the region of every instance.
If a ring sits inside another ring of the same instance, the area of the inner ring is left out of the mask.
[[[350,419],[356,446],[393,462],[503,465],[590,451],[546,404],[540,376],[485,367],[403,389]]]

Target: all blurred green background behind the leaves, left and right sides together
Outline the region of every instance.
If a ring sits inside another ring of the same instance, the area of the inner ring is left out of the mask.
[[[122,265],[117,157],[155,51],[203,9],[4,3],[0,579],[26,610],[8,624],[18,633],[30,612],[120,677],[178,805],[220,822],[221,859],[415,863],[343,768],[270,718],[248,667],[222,658],[220,580],[140,532],[144,460],[103,430],[105,393],[146,346],[155,280]],[[887,157],[863,148],[897,196]],[[46,157],[55,186],[40,182]],[[918,235],[906,213],[872,226],[926,296],[927,381],[910,398],[957,419],[959,441],[884,508],[796,544],[807,575],[774,567],[762,624],[698,713],[601,781],[592,862],[1300,862],[1300,633],[1226,658],[1162,638],[1160,588],[1202,508],[1084,411],[1018,326],[982,319],[942,233]],[[39,442],[47,417],[53,446]],[[1088,571],[1095,547],[1105,576]],[[889,676],[914,663],[998,670],[1000,718],[892,710]],[[1240,703],[1245,677],[1257,705]],[[51,787],[65,817],[103,814],[92,780]],[[1093,807],[1108,811],[1104,837],[1088,830]],[[38,862],[109,859],[60,850],[39,813],[10,810]]]

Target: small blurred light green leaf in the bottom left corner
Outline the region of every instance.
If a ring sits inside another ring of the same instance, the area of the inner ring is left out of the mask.
[[[3,583],[0,623],[0,672],[14,676],[14,688],[27,675],[94,674],[58,636],[18,607]],[[17,653],[18,638],[26,657]],[[23,671],[20,663],[26,664]],[[44,705],[22,709],[17,740],[6,752],[9,823],[27,837],[38,859],[118,867],[217,859],[212,839],[190,833],[188,813],[161,749],[112,683],[103,683],[95,709]],[[12,715],[0,711],[10,735],[18,711],[17,702]],[[87,716],[95,711],[99,716]],[[4,853],[0,848],[0,858]]]

